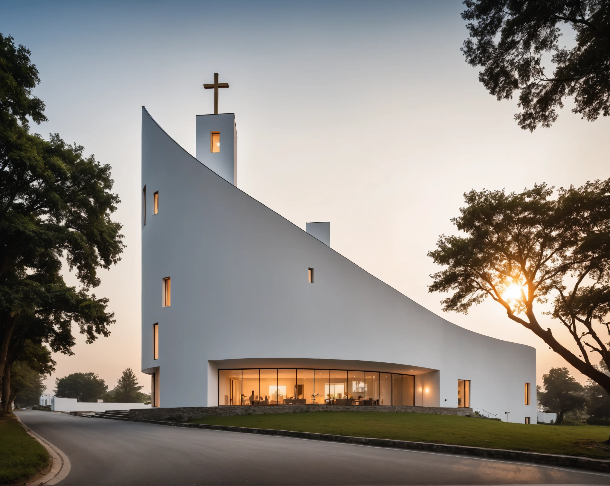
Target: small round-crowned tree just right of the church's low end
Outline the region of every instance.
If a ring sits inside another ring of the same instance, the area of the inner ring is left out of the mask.
[[[557,424],[564,421],[564,413],[583,408],[586,399],[584,386],[578,383],[567,368],[551,368],[542,375],[546,391],[540,396],[540,404],[557,413]]]

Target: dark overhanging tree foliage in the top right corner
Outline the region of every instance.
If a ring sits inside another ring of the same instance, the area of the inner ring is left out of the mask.
[[[534,131],[558,118],[573,96],[574,113],[589,121],[610,115],[610,5],[603,0],[465,0],[462,18],[470,38],[462,53],[481,66],[479,81],[498,101],[520,92],[519,126]],[[559,47],[561,27],[575,31],[576,46]],[[542,55],[556,65],[545,74]]]

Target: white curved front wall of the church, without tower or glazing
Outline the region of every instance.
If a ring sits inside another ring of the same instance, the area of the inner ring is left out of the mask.
[[[226,363],[332,359],[364,362],[350,369],[415,369],[416,386],[432,388],[427,406],[456,406],[457,380],[467,379],[474,410],[509,411],[520,423],[536,417],[534,348],[426,310],[212,172],[143,108],[144,185],[142,368],[160,369],[160,406],[217,405],[217,368]],[[163,277],[171,277],[165,308]],[[532,405],[524,405],[525,382]]]

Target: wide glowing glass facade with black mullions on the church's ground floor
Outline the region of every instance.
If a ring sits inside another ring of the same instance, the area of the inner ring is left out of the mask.
[[[218,405],[414,405],[413,375],[343,369],[220,369]]]

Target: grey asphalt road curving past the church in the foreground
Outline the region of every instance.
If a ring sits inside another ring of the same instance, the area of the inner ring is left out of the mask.
[[[56,412],[21,420],[71,462],[62,485],[609,484],[610,475],[451,454]]]

